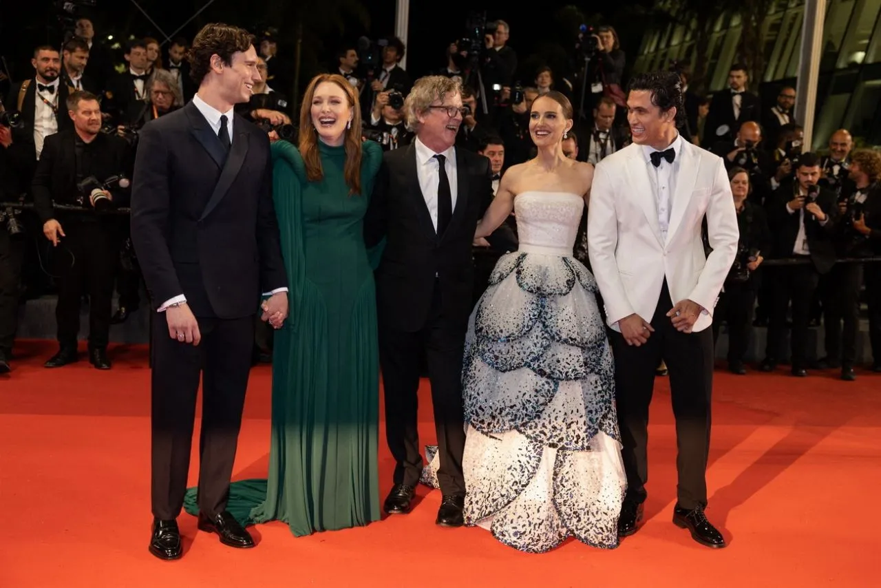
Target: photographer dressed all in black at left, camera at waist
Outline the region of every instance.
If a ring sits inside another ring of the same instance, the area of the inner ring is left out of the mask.
[[[102,133],[98,98],[75,92],[67,100],[73,130],[46,138],[33,176],[33,205],[43,222],[43,234],[56,248],[59,264],[56,321],[60,349],[47,362],[57,368],[78,360],[79,307],[89,294],[89,361],[110,368],[107,341],[119,242],[115,216],[101,214],[124,205],[130,176],[130,147],[113,134]],[[111,186],[111,184],[113,184]],[[114,192],[108,190],[113,187]],[[76,206],[76,211],[56,210]],[[60,247],[59,247],[60,245]]]

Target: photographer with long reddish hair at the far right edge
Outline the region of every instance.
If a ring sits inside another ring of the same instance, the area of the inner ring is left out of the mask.
[[[858,151],[849,168],[852,188],[838,201],[840,222],[836,226],[835,245],[840,257],[872,257],[881,254],[881,153]],[[863,272],[866,278],[866,298],[869,302],[869,332],[875,367],[881,360],[881,323],[878,306],[881,291],[878,277],[881,264],[840,263],[829,272],[829,288],[823,309],[825,324],[826,363],[837,367],[840,362],[841,379],[856,379],[856,332],[859,328],[860,287]],[[842,330],[843,324],[843,330]]]

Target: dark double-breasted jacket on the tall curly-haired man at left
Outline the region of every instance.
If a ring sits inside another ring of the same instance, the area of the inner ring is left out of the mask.
[[[226,159],[192,102],[140,132],[131,240],[156,308],[184,294],[196,316],[241,318],[261,293],[287,287],[269,138],[233,121]]]

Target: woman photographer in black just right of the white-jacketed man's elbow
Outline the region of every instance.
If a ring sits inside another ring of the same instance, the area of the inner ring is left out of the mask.
[[[737,210],[740,241],[737,258],[731,265],[716,304],[713,321],[713,340],[719,338],[722,320],[728,324],[728,368],[732,374],[744,375],[744,355],[749,344],[752,308],[756,301],[761,272],[757,272],[770,248],[771,233],[765,211],[749,200],[752,191],[751,175],[743,167],[732,167],[728,173],[731,194]]]

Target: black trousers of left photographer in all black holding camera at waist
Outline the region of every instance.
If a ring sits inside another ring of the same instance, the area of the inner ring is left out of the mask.
[[[111,219],[63,220],[65,236],[54,250],[58,276],[58,342],[76,347],[79,309],[89,294],[89,348],[107,347],[119,241]]]

